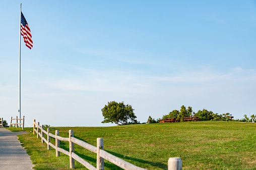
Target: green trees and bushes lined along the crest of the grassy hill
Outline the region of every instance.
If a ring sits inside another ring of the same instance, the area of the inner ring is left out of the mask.
[[[129,104],[124,104],[124,102],[111,101],[108,102],[102,109],[102,115],[104,120],[102,123],[115,123],[117,125],[125,124],[139,124],[137,121],[137,116],[134,113],[134,109]],[[199,117],[202,121],[214,120],[214,121],[230,121],[230,113],[218,114],[213,111],[208,111],[207,109],[199,110],[194,112],[192,107],[188,106],[187,108],[182,105],[180,110],[172,110],[166,115],[163,115],[162,118],[153,119],[149,116],[147,122],[145,123],[158,123],[160,119],[166,118],[176,118],[179,121],[184,121],[186,117]],[[243,119],[233,119],[234,121],[243,121],[243,122],[256,122],[256,115],[251,115],[247,117],[244,115]]]

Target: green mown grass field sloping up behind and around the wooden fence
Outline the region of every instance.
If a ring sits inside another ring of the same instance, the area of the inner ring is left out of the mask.
[[[10,129],[10,128],[9,128]],[[11,128],[15,130],[15,128]],[[134,124],[113,127],[50,127],[55,134],[76,138],[96,146],[104,139],[104,150],[137,166],[167,169],[169,157],[180,157],[183,169],[256,169],[256,123],[199,121],[180,123]],[[30,131],[19,135],[35,164],[35,169],[68,169],[69,156],[47,150]],[[51,141],[55,143],[54,140]],[[68,150],[68,142],[60,142]],[[96,166],[96,154],[75,144],[75,153]],[[86,169],[75,161],[77,169]],[[120,169],[105,160],[105,169]]]

